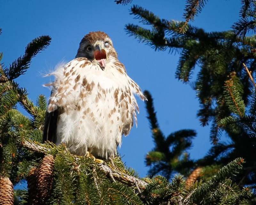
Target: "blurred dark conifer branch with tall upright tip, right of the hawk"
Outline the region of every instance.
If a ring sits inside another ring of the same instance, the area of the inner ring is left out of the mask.
[[[148,112],[147,118],[155,143],[155,147],[148,152],[145,160],[146,165],[150,166],[148,175],[154,176],[161,173],[169,179],[174,171],[185,173],[194,166],[186,150],[191,147],[196,132],[194,130],[179,130],[165,137],[157,122],[153,98],[147,90],[144,91],[144,95],[148,99],[145,102]]]

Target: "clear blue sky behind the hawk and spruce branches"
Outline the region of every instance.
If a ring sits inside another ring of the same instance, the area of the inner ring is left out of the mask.
[[[209,1],[192,25],[209,32],[229,30],[238,19],[240,3],[239,0]],[[160,18],[183,20],[185,0],[133,0],[133,4],[153,11]],[[0,27],[3,30],[0,35],[0,52],[4,53],[1,63],[8,66],[24,54],[26,45],[32,39],[50,35],[51,45],[33,58],[26,74],[17,79],[21,87],[27,88],[28,97],[34,102],[39,94],[49,98],[50,90],[42,85],[53,79],[43,75],[54,70],[59,62],[74,59],[79,42],[85,34],[104,31],[111,37],[128,75],[142,90],[151,92],[164,134],[180,129],[195,129],[197,137],[193,140],[193,148],[189,153],[194,159],[203,157],[211,146],[210,127],[200,126],[196,118],[199,103],[195,91],[188,84],[174,78],[179,55],[168,51],[156,52],[126,34],[125,24],[139,24],[138,19],[133,19],[130,15],[131,6],[132,4],[116,5],[114,0],[1,1]],[[195,73],[197,71],[198,68]],[[119,152],[124,156],[126,165],[133,167],[144,177],[148,171],[144,158],[154,145],[145,104],[140,99],[138,103],[138,128],[134,126],[130,135],[123,138]]]

